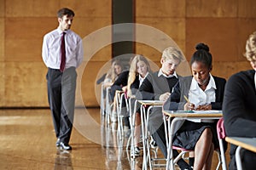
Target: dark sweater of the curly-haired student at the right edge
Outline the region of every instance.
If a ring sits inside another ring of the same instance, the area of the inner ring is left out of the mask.
[[[224,92],[224,126],[228,136],[256,137],[256,94],[246,74],[230,77]]]

